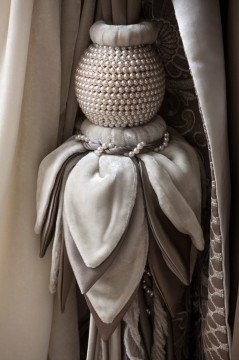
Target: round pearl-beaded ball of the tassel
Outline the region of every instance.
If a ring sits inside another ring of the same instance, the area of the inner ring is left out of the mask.
[[[165,73],[151,45],[110,47],[92,44],[75,76],[77,101],[94,124],[139,126],[158,112],[165,92]]]

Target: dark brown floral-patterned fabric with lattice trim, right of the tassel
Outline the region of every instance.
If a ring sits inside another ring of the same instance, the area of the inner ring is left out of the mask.
[[[206,174],[203,227],[206,249],[188,294],[187,311],[173,319],[178,359],[229,358],[224,309],[223,256],[214,166],[188,61],[170,0],[143,0],[144,15],[158,21],[158,52],[166,70],[161,114],[200,154]]]

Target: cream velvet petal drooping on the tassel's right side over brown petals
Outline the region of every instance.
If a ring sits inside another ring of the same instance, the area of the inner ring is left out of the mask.
[[[160,154],[139,157],[146,166],[162,211],[178,231],[188,234],[194,246],[203,250],[200,167],[194,149],[183,139],[174,137]]]

